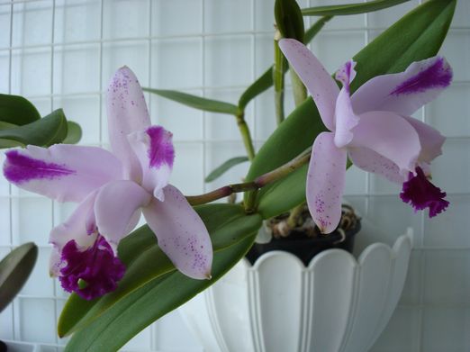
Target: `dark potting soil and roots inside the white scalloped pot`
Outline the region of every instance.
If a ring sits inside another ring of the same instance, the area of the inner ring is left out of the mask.
[[[285,221],[288,214],[282,214],[271,219],[267,226],[273,233],[273,238],[268,243],[255,243],[249,249],[246,257],[251,265],[255,264],[258,257],[273,250],[284,250],[299,257],[305,266],[308,266],[312,257],[330,248],[340,248],[352,252],[354,239],[361,229],[360,219],[350,206],[344,205],[339,228],[328,235],[320,233],[315,226],[308,209],[299,217],[300,226],[285,231]]]

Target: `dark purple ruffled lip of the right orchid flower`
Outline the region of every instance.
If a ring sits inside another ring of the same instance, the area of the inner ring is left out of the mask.
[[[429,218],[446,210],[448,202],[444,199],[447,194],[432,185],[420,167],[416,167],[416,176],[410,173],[408,181],[403,183],[400,198],[404,203],[411,203],[414,210],[429,208]]]

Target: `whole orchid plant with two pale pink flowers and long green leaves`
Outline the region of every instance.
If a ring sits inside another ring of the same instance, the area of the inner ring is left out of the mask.
[[[334,15],[402,2],[301,12],[294,0],[276,1],[275,65],[249,86],[238,105],[149,89],[179,103],[233,114],[248,157],[229,160],[216,173],[249,160],[244,183],[192,196],[169,185],[172,134],[150,124],[138,78],[127,67],[117,70],[107,92],[111,151],[54,144],[6,152],[4,175],[11,183],[77,203],[68,220],[50,232],[50,275],[72,293],[59,320],[60,336],[75,332],[68,350],[121,347],[235,265],[263,220],[305,201],[321,233],[334,231],[350,163],[402,184],[403,202],[429,209],[429,217],[446,210],[446,194],[430,182],[430,163],[445,138],[411,114],[451,83],[450,66],[436,55],[456,1],[420,5],[346,60],[336,79],[305,46]],[[302,15],[323,17],[305,32]],[[285,119],[287,64],[281,53],[291,68],[297,105]],[[273,85],[278,127],[256,153],[244,111]],[[212,203],[239,192],[241,203]],[[141,213],[147,225],[134,230]]]

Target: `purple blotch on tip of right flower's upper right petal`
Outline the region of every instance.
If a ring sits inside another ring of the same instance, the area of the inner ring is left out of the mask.
[[[409,95],[425,92],[428,89],[444,88],[452,81],[452,69],[444,58],[438,58],[428,68],[423,68],[413,77],[397,86],[390,95]]]

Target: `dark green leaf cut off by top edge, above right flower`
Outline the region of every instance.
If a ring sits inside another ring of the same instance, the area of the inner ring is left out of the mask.
[[[305,29],[301,9],[295,0],[276,0],[276,25],[283,38],[294,38],[303,42]]]

